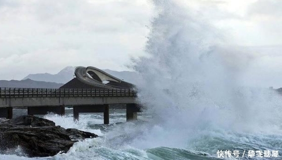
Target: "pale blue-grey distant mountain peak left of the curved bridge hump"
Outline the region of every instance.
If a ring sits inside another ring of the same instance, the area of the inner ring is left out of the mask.
[[[57,74],[50,74],[50,73],[29,74],[22,80],[32,79],[35,81],[45,81],[45,82],[55,82],[55,83],[65,84],[74,78],[75,68],[76,68],[75,66],[67,66]]]

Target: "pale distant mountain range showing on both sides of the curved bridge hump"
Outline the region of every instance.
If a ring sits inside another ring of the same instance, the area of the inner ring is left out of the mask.
[[[57,74],[49,74],[49,73],[29,74],[28,76],[23,78],[23,80],[32,79],[35,81],[45,81],[45,82],[55,82],[55,83],[65,84],[74,78],[75,68],[76,68],[75,66],[67,66]],[[137,72],[132,72],[132,71],[114,71],[110,69],[103,69],[103,70],[117,78],[123,79],[124,81],[133,84],[136,83],[140,77]]]

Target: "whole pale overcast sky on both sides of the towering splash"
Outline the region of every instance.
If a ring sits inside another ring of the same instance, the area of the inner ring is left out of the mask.
[[[282,0],[174,1],[227,36],[228,45],[251,48],[246,69],[258,85],[282,87]],[[155,9],[150,0],[0,0],[0,79],[69,65],[128,70],[131,57],[146,54]]]

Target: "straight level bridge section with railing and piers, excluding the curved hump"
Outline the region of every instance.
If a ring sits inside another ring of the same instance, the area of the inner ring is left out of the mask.
[[[29,115],[54,112],[63,115],[65,106],[73,106],[74,119],[82,112],[104,112],[109,124],[109,104],[126,104],[126,119],[137,118],[134,89],[38,89],[0,88],[0,117],[12,118],[12,107],[27,107]]]

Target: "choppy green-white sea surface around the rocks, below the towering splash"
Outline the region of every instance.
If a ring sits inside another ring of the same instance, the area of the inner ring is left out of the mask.
[[[244,132],[223,128],[166,128],[152,123],[154,115],[146,111],[138,114],[138,121],[126,122],[125,110],[110,110],[110,125],[103,125],[99,113],[80,114],[74,122],[72,109],[65,116],[48,114],[41,117],[52,120],[64,128],[78,128],[99,135],[74,144],[67,153],[54,157],[27,158],[20,148],[0,155],[0,160],[218,160],[217,150],[239,151],[240,157],[222,160],[281,160],[282,158],[249,158],[245,150],[277,150],[282,153],[280,129],[268,132]],[[14,109],[17,115],[24,109]],[[275,129],[275,128],[273,128]],[[272,131],[275,131],[272,132]],[[277,131],[277,132],[276,132]]]

